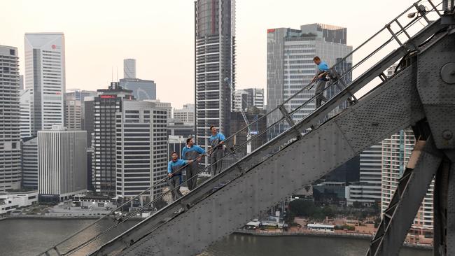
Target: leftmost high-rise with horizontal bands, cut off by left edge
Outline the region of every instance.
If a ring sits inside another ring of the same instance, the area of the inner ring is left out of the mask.
[[[0,192],[20,189],[18,48],[0,45]]]

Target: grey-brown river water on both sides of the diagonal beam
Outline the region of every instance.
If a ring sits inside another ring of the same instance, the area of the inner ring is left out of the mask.
[[[29,256],[52,246],[76,230],[90,224],[93,220],[1,220],[0,221],[0,255]],[[127,222],[122,227],[127,229],[136,222]],[[88,239],[109,225],[102,222],[88,230],[88,234],[78,237],[78,241]],[[88,250],[109,241],[109,237],[96,241]],[[78,241],[68,243],[72,248]],[[247,236],[232,234],[208,248],[203,256],[302,256],[302,255],[335,255],[363,256],[368,241],[363,239],[321,238],[312,236]],[[84,255],[77,253],[75,255]],[[430,256],[430,250],[402,248],[400,256]]]

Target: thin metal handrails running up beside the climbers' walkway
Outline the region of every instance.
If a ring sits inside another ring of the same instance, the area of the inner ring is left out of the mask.
[[[416,3],[419,3],[421,2],[421,0],[417,1]],[[430,2],[430,1],[429,1]],[[431,5],[433,6],[433,3],[431,3]],[[438,4],[437,6],[439,6],[440,4]],[[436,9],[437,6],[434,6],[434,9]],[[400,15],[398,15],[397,17],[395,17],[395,19],[393,19],[391,22],[388,23],[388,25],[392,24],[393,22],[395,22],[396,20],[398,20],[398,18],[400,16],[402,16],[403,14],[405,14],[407,11],[411,10],[412,8],[414,7],[413,6],[410,6],[409,8],[407,8],[404,12],[402,12]],[[403,27],[403,29],[400,29],[400,31],[398,31],[396,33],[396,35],[399,35],[401,33],[403,33],[405,31],[405,29],[407,29],[408,27],[412,26],[412,24],[415,24],[415,22],[417,20],[420,20],[420,18],[423,17],[423,16],[419,16],[419,17],[416,17],[414,18],[414,20],[412,20],[412,22],[409,22],[405,27]],[[356,52],[358,49],[362,48],[363,45],[365,45],[366,43],[368,43],[369,41],[371,41],[374,37],[376,37],[377,35],[379,35],[382,31],[384,31],[386,29],[387,25],[380,29],[377,33],[375,33],[373,36],[371,36],[370,38],[367,39],[367,41],[363,42],[362,44],[360,44],[357,48],[355,48],[353,51],[351,51],[348,55],[346,55],[345,57],[343,57],[342,59],[339,60],[339,62],[337,62],[336,64],[334,64],[330,70],[334,70],[335,69],[335,66],[338,66],[339,64],[342,64],[342,62],[346,61],[346,59],[348,59],[350,56],[353,55],[353,52]],[[362,59],[360,62],[356,63],[356,65],[352,66],[351,69],[347,70],[347,71],[344,71],[342,73],[342,75],[340,76],[339,80],[341,80],[342,78],[344,78],[345,76],[349,75],[349,73],[351,73],[351,71],[353,71],[353,69],[356,69],[356,67],[358,67],[360,64],[362,64],[363,62],[365,62],[367,59],[369,59],[372,55],[374,55],[374,53],[378,52],[379,50],[381,50],[382,48],[385,47],[385,45],[387,45],[388,43],[390,43],[391,41],[393,41],[393,37],[391,37],[390,39],[388,39],[388,41],[386,41],[386,43],[384,43],[383,45],[381,45],[379,48],[377,48],[376,50],[374,50],[374,52],[370,53],[370,55],[367,55],[367,57],[365,57],[364,59]],[[336,83],[339,83],[339,80],[337,80]],[[308,85],[311,85],[311,83],[309,83]],[[335,83],[333,83],[332,85],[335,85]],[[283,103],[281,103],[279,106],[276,106],[275,108],[273,108],[271,111],[267,112],[265,115],[263,115],[262,117],[258,118],[257,120],[255,120],[254,122],[251,122],[250,125],[246,125],[244,128],[242,129],[239,129],[235,134],[232,134],[231,136],[229,136],[228,138],[226,138],[225,141],[229,141],[231,138],[233,138],[234,136],[237,136],[238,134],[240,134],[242,131],[245,131],[246,129],[248,129],[248,127],[251,127],[252,125],[255,125],[256,123],[260,122],[260,120],[262,120],[263,118],[266,118],[268,115],[270,115],[271,113],[274,113],[275,111],[279,110],[280,107],[284,106],[285,104],[287,104],[290,100],[292,99],[295,99],[295,97],[297,97],[298,94],[302,93],[304,90],[305,90],[305,87],[307,86],[304,86],[302,87],[301,90],[297,91],[292,97],[289,97],[288,99],[286,99],[285,101],[283,101]],[[326,90],[328,90],[330,88],[330,85],[328,87],[325,88],[325,90],[323,90],[323,92],[321,92],[321,94],[323,94]],[[318,94],[320,95],[320,94]],[[218,163],[218,162],[221,162],[225,157],[228,157],[229,155],[232,155],[234,154],[234,152],[236,150],[238,150],[239,148],[242,148],[244,145],[246,145],[246,143],[248,142],[251,142],[253,141],[253,139],[255,138],[258,138],[258,136],[262,136],[264,135],[267,131],[269,131],[270,129],[272,129],[272,127],[276,127],[276,125],[279,125],[281,124],[281,122],[283,121],[286,121],[286,118],[290,118],[292,117],[293,114],[295,114],[297,111],[300,111],[301,108],[303,108],[304,106],[307,106],[307,104],[309,104],[311,101],[314,101],[314,99],[316,99],[316,97],[318,95],[315,95],[314,97],[311,97],[310,99],[308,99],[307,101],[304,102],[304,104],[300,105],[299,107],[295,108],[293,111],[290,111],[290,113],[288,113],[288,115],[286,116],[283,116],[282,118],[280,118],[279,120],[277,120],[276,122],[274,122],[274,124],[272,124],[271,126],[267,127],[267,129],[265,129],[265,131],[262,131],[260,134],[256,134],[255,136],[252,136],[251,139],[249,140],[246,140],[244,143],[242,143],[241,145],[238,146],[238,148],[235,148],[234,150],[232,150],[231,152],[229,152],[227,155],[223,156],[221,159],[219,159],[217,162],[215,163],[211,163],[209,166],[206,166],[204,169],[202,169],[201,171],[199,171],[197,174],[199,173],[202,173],[204,171],[206,171],[207,169],[209,169],[211,166],[213,166],[214,164]],[[213,150],[213,149],[211,149]],[[207,156],[209,152],[211,152],[211,150],[208,150],[205,154],[201,155],[200,157],[204,157],[204,156]],[[234,154],[235,155],[235,154]],[[174,173],[176,172],[179,172],[183,169],[185,169],[186,167],[188,166],[188,164],[182,166],[180,169],[178,169],[177,171],[174,171]],[[191,178],[188,178],[185,182],[183,182],[181,185],[183,185],[184,183],[188,183],[188,180],[191,180],[193,178],[197,178],[197,174]],[[122,204],[121,206],[119,206],[118,208],[112,210],[110,213],[107,213],[106,215],[102,216],[102,218],[99,218],[98,220],[96,220],[95,222],[92,222],[90,225],[87,225],[87,227],[84,227],[83,229],[80,229],[78,232],[72,234],[71,236],[67,237],[66,239],[64,239],[63,241],[60,241],[59,243],[55,244],[54,246],[52,246],[52,248],[49,248],[48,250],[46,250],[44,253],[41,253],[40,255],[43,255],[45,253],[47,253],[48,251],[51,251],[51,250],[57,250],[57,246],[59,245],[62,245],[62,243],[66,242],[66,241],[69,241],[69,239],[73,238],[74,236],[80,234],[81,232],[85,231],[86,229],[92,227],[93,225],[95,225],[97,222],[105,219],[106,217],[112,215],[113,213],[115,213],[115,211],[118,211],[119,209],[123,208],[123,206],[126,206],[127,204],[130,204],[131,201],[133,201],[134,199],[137,199],[139,198],[141,195],[145,194],[146,192],[152,190],[154,187],[156,187],[157,185],[160,185],[164,182],[166,182],[168,180],[168,178],[164,178],[160,181],[158,181],[158,183],[155,183],[153,184],[151,187],[149,187],[147,190],[144,190],[143,192],[139,193],[137,196],[133,197],[132,199],[126,201],[124,204]],[[181,187],[181,185],[177,186],[176,188],[174,188],[174,190],[176,189],[179,189]],[[126,220],[128,220],[129,218],[131,218],[132,216],[134,216],[136,213],[142,211],[144,208],[150,206],[151,204],[153,204],[154,202],[156,202],[158,199],[161,199],[162,197],[164,197],[165,194],[168,194],[170,192],[173,192],[174,190],[168,190],[167,192],[163,193],[162,195],[160,195],[160,197],[158,197],[157,199],[154,199],[153,201],[151,201],[150,203],[146,204],[146,206],[140,208],[139,210],[135,211],[134,213],[132,213],[131,215],[127,216],[127,218],[125,218],[124,220],[121,220],[117,225],[114,225],[108,229],[106,229],[104,232],[100,233],[99,235],[95,236],[95,239],[99,238],[100,236],[102,236],[103,234],[106,234],[107,232],[109,232],[110,230],[112,230],[113,228],[117,227],[120,223],[123,223],[125,222]],[[151,216],[153,217],[153,216]],[[91,240],[91,239],[90,239]],[[90,241],[87,241],[88,243],[90,243]],[[79,248],[79,247],[78,247]]]

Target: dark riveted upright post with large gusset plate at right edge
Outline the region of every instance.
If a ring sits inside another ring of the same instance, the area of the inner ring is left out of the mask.
[[[436,148],[447,157],[435,182],[435,256],[455,255],[455,34],[444,33],[419,55],[416,80]]]

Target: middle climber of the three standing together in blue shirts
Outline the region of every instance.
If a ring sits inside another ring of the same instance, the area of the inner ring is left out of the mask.
[[[200,160],[200,155],[205,154],[200,146],[195,145],[193,138],[188,138],[186,140],[186,146],[182,150],[182,158],[186,160]],[[197,162],[193,162],[186,167],[186,183],[188,185],[188,190],[193,190],[196,187],[197,178],[192,178],[197,174]]]

